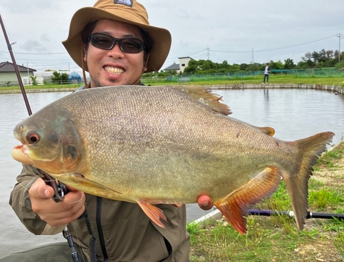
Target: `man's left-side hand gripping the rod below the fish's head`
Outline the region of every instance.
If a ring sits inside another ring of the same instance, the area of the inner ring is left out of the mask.
[[[38,179],[29,190],[32,211],[52,227],[67,225],[78,219],[85,210],[85,194],[73,188],[62,202],[52,200],[54,189],[46,185],[43,179]]]

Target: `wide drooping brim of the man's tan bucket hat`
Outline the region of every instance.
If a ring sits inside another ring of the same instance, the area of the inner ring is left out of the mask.
[[[140,21],[132,21],[131,19],[129,20],[125,17],[119,17],[103,9],[91,7],[81,8],[76,11],[72,17],[72,21],[70,22],[68,38],[62,42],[70,57],[72,57],[74,62],[80,66],[80,68],[83,67],[85,71],[88,72],[87,64],[83,64],[83,41],[81,40],[80,32],[82,32],[88,23],[98,19],[112,19],[131,23],[146,31],[153,39],[153,48],[149,54],[146,72],[158,71],[162,68],[164,61],[169,55],[172,43],[169,30],[149,26],[147,24],[140,23]]]

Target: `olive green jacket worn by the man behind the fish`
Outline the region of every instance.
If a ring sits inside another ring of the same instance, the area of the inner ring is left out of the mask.
[[[10,205],[34,234],[57,234],[65,225],[51,227],[32,212],[28,189],[39,177],[24,165],[10,196]],[[139,205],[86,194],[87,214],[96,238],[100,261],[189,261],[186,208],[158,205],[168,220],[166,229],[152,223]],[[85,218],[68,225],[74,243],[89,256],[90,234]],[[169,252],[171,254],[169,254]]]

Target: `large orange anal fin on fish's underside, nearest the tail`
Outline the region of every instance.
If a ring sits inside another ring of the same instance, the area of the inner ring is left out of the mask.
[[[246,234],[248,207],[275,192],[281,183],[277,168],[268,167],[238,190],[216,201],[214,204],[240,234]]]

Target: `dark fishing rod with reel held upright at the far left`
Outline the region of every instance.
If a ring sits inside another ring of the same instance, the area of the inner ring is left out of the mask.
[[[12,51],[12,44],[14,44],[14,43],[10,44],[10,41],[8,40],[8,35],[6,33],[5,25],[3,23],[1,14],[0,14],[0,23],[1,23],[1,28],[3,30],[3,36],[6,39],[6,43],[7,43],[7,46],[8,46],[8,51],[10,52],[10,56],[11,56],[11,59],[12,59],[14,70],[15,70],[15,72],[17,74],[17,79],[19,81],[19,86],[21,87],[21,93],[23,94],[25,105],[26,105],[26,108],[28,110],[28,114],[30,116],[30,115],[32,115],[32,111],[31,111],[31,108],[30,108],[30,103],[28,101],[28,97],[26,96],[26,92],[25,92],[25,88],[24,88],[24,85],[23,85],[23,81],[21,81],[21,75],[19,73],[17,62],[16,62],[16,59],[14,59],[14,54],[13,54],[13,51]],[[50,185],[52,188],[54,188],[54,192],[55,193],[54,193],[54,196],[52,197],[52,199],[56,203],[58,203],[60,201],[63,201],[65,194],[67,194],[67,192],[69,192],[69,190],[67,189],[65,184],[61,183],[61,182],[57,182],[56,179],[50,177],[50,175],[45,173],[43,170],[39,170],[38,168],[34,168],[34,167],[32,167],[32,170],[34,170],[34,173],[38,174],[39,177],[41,177],[41,179],[43,179],[43,181],[47,185]],[[72,240],[72,235],[69,233],[69,230],[68,230],[67,226],[65,227],[65,230],[63,232],[65,232],[65,236],[66,236],[69,248],[72,251],[71,255],[72,255],[73,261],[74,262],[79,261],[78,253],[76,252],[76,250],[74,248],[74,242]]]

